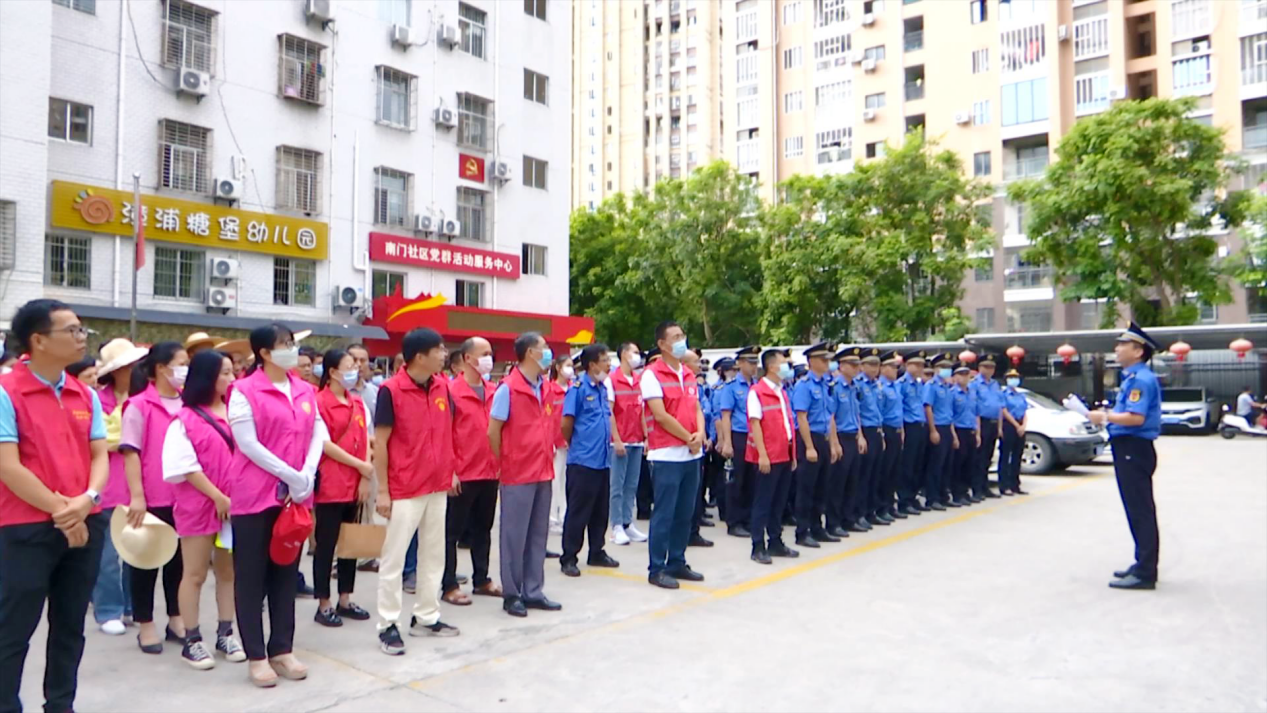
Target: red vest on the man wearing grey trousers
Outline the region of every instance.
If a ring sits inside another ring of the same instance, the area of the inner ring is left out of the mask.
[[[502,427],[502,485],[554,480],[554,438],[546,413],[547,407],[554,407],[545,398],[547,385],[541,385],[544,398],[537,399],[518,366],[502,384],[511,390],[511,415]]]

